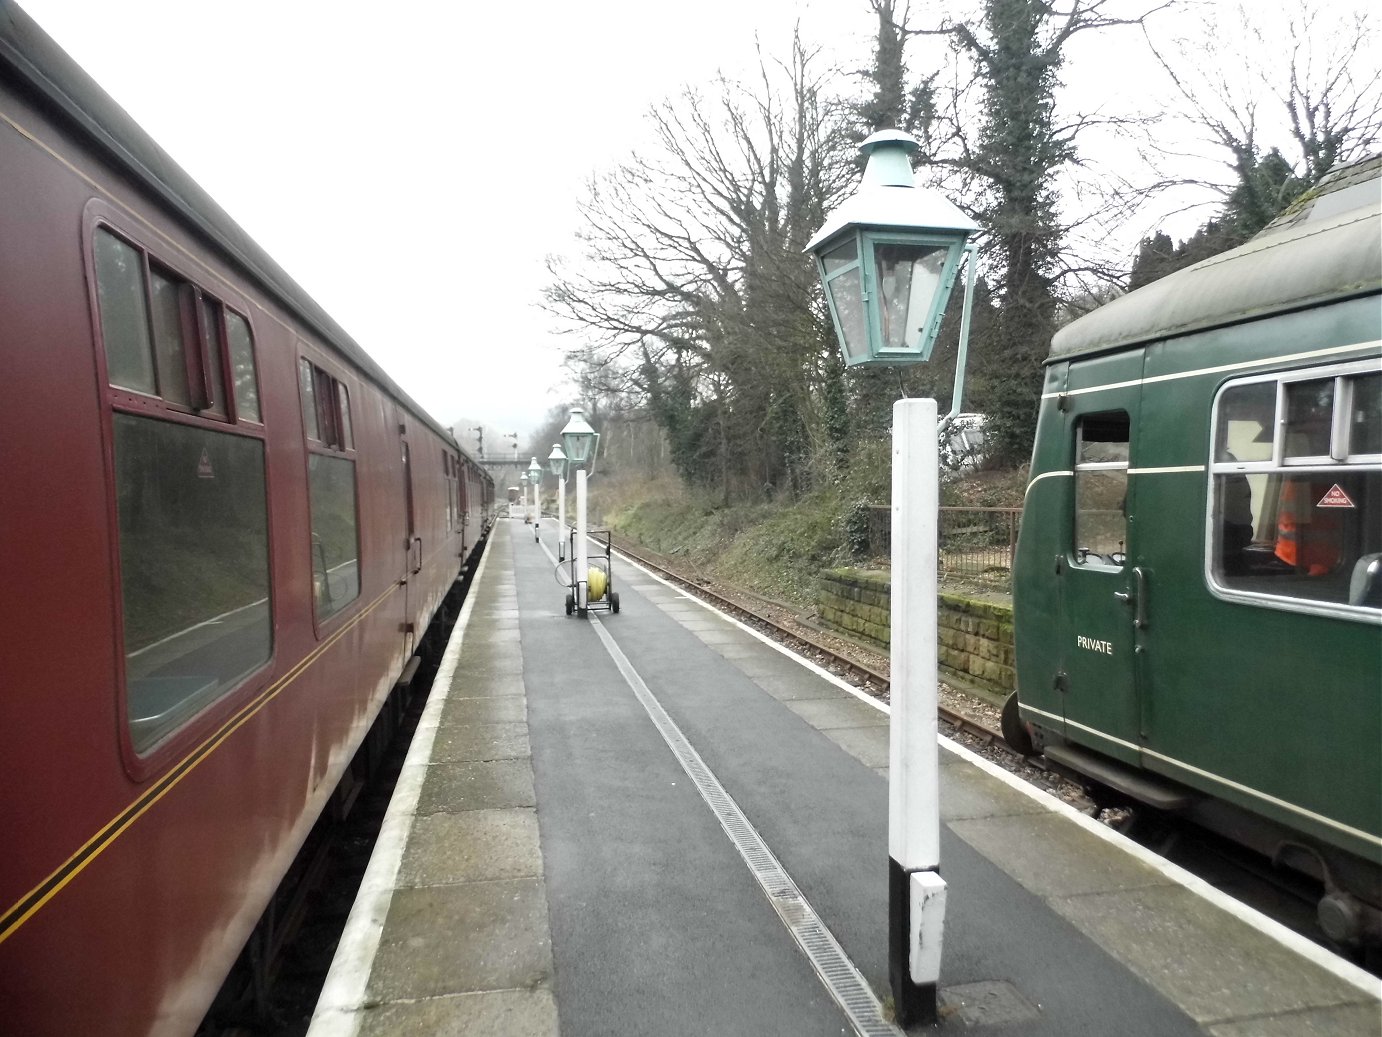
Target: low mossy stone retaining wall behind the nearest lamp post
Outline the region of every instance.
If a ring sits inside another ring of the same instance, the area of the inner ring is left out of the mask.
[[[1013,607],[943,592],[938,658],[951,673],[991,691],[1012,691]],[[821,574],[821,622],[851,637],[887,648],[891,579],[887,572],[835,568]]]

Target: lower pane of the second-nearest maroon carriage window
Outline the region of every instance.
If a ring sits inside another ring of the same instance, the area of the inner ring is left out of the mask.
[[[307,466],[312,512],[312,604],[321,621],[359,597],[355,462],[312,454]]]

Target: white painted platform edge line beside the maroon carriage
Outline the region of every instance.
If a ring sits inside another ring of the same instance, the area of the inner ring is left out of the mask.
[[[431,759],[441,711],[451,693],[451,680],[460,662],[460,648],[466,640],[466,629],[470,626],[470,614],[475,610],[480,583],[485,577],[485,567],[489,564],[489,556],[493,553],[491,548],[493,546],[492,541],[480,559],[480,568],[475,570],[466,604],[462,606],[451,639],[446,642],[446,650],[442,653],[441,665],[427,695],[427,705],[417,722],[412,745],[408,747],[408,756],[398,774],[398,784],[388,801],[384,824],[380,827],[379,839],[375,842],[369,866],[365,868],[359,893],[357,893],[350,917],[346,919],[340,943],[336,944],[336,955],[332,958],[330,971],[328,971],[326,982],[322,984],[307,1037],[355,1037],[359,1033],[363,1020],[361,1009],[366,1001],[369,973],[375,966],[384,921],[388,918],[388,907],[398,885],[398,868],[402,864],[404,848],[408,845],[408,834],[412,831],[417,813],[417,802],[427,777],[427,762]]]

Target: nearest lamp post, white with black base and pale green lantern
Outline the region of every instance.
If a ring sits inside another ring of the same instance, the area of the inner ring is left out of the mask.
[[[959,413],[974,293],[973,220],[916,187],[916,141],[875,133],[860,151],[864,183],[806,250],[817,271],[846,366],[930,358],[960,259],[969,260],[951,413]],[[934,400],[893,405],[893,697],[889,723],[889,978],[897,1022],[934,1023],[945,922],[940,877]]]

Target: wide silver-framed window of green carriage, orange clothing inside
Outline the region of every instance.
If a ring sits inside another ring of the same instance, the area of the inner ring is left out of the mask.
[[[1208,545],[1218,588],[1306,608],[1382,608],[1379,397],[1375,364],[1220,391]],[[1271,438],[1266,456],[1245,449]]]

